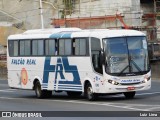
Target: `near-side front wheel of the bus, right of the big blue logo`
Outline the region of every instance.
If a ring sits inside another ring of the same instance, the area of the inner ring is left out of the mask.
[[[92,85],[90,83],[87,83],[87,85],[85,87],[85,97],[89,101],[94,101],[94,100],[97,99],[97,95],[95,93],[93,93],[93,88],[92,88]]]

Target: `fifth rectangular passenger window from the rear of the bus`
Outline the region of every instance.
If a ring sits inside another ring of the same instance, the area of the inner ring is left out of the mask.
[[[59,55],[72,55],[72,40],[60,39],[58,50],[59,50]]]

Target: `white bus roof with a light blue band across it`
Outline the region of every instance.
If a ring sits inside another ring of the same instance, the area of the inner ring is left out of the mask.
[[[83,37],[97,37],[97,38],[111,38],[122,36],[145,36],[144,33],[136,30],[109,30],[109,29],[86,29],[80,28],[52,28],[52,29],[37,29],[28,30],[22,34],[10,35],[8,39],[40,39],[40,38],[83,38]]]

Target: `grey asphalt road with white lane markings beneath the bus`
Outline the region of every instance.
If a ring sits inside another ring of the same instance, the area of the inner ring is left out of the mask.
[[[7,80],[0,80],[0,111],[115,111],[115,116],[118,111],[160,111],[160,80],[152,80],[150,90],[137,92],[131,100],[114,95],[93,102],[83,96],[70,98],[65,92],[37,99],[34,91],[10,89]]]

